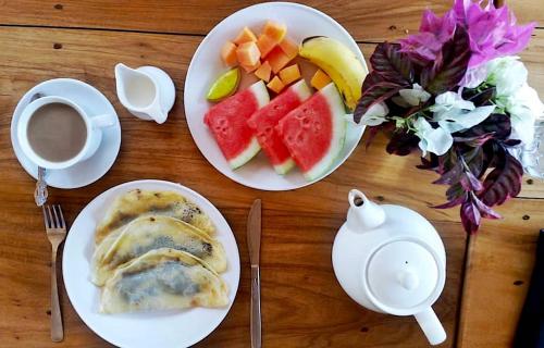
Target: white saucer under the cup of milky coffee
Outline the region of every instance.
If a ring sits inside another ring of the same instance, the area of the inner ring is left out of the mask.
[[[45,96],[60,96],[73,100],[90,114],[111,113],[115,124],[103,128],[102,142],[97,152],[88,160],[65,170],[47,171],[47,185],[57,188],[77,188],[89,185],[102,177],[113,165],[121,147],[121,125],[111,102],[95,87],[73,78],[49,79],[34,86],[17,103],[11,120],[11,144],[18,162],[34,178],[38,177],[38,166],[21,149],[16,137],[16,125],[30,98],[40,92]]]

